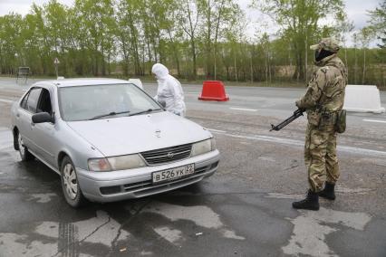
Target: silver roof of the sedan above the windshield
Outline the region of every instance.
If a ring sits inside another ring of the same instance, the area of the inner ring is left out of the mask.
[[[105,78],[82,78],[82,79],[59,79],[51,81],[39,81],[36,86],[57,86],[58,88],[77,87],[77,86],[92,86],[92,85],[108,85],[108,84],[128,84],[129,81],[118,79]]]

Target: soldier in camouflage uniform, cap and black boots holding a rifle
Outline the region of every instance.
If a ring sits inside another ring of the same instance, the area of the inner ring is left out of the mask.
[[[304,200],[293,203],[296,209],[319,210],[319,196],[335,199],[339,166],[334,125],[337,112],[343,109],[347,84],[347,70],[337,57],[339,48],[332,38],[324,38],[311,46],[315,50],[315,64],[320,68],[314,72],[304,96],[296,101],[296,106],[306,111],[308,119],[304,163],[310,187]]]

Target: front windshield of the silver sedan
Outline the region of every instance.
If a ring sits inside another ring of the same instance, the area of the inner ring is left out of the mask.
[[[107,119],[161,110],[133,84],[92,85],[59,89],[63,120]]]

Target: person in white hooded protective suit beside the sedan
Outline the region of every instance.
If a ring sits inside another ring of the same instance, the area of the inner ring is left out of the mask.
[[[186,107],[181,83],[179,83],[176,78],[169,75],[168,68],[163,64],[154,64],[151,68],[151,72],[156,76],[159,84],[157,95],[154,99],[164,105],[165,109],[168,111],[184,117]]]

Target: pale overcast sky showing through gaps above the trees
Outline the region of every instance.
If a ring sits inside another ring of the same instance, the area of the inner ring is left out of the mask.
[[[35,3],[37,5],[43,5],[44,3],[48,2],[49,0],[0,0],[0,15],[5,15],[10,12],[14,12],[17,14],[27,14],[30,10],[30,6],[32,5],[32,3]],[[58,0],[58,2],[65,5],[72,5],[74,1]],[[269,27],[270,24],[267,20],[267,17],[258,12],[256,9],[251,9],[248,7],[252,0],[239,0],[236,2],[243,8],[243,10],[246,11],[246,15],[249,21],[246,31],[249,35],[253,35],[256,29],[260,29],[257,27],[257,21],[261,22],[262,20],[265,21],[267,26],[265,30],[267,29],[270,32],[275,31],[275,27]],[[367,11],[373,10],[375,7],[381,4],[381,0],[343,0],[343,2],[346,5],[346,12],[348,14],[349,19],[353,21],[355,25],[355,30],[359,30],[366,25],[366,22],[369,20]],[[349,42],[349,44],[351,43]]]

